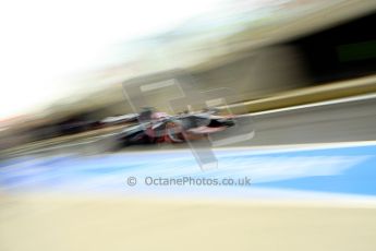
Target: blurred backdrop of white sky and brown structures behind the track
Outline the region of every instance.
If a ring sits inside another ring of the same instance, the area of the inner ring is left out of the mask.
[[[105,118],[134,112],[122,83],[173,79],[177,69],[199,91],[234,89],[230,104],[316,95],[236,113],[375,91],[363,79],[376,69],[372,1],[22,4],[2,11],[1,150],[101,129]],[[169,95],[151,105],[166,110]]]

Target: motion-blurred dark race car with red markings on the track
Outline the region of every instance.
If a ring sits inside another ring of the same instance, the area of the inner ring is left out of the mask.
[[[217,110],[183,112],[170,116],[153,109],[144,109],[136,124],[116,135],[119,147],[134,144],[182,143],[206,138],[234,125],[233,117],[218,116]]]

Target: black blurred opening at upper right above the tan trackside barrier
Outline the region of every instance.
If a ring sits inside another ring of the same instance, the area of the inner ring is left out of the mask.
[[[312,84],[375,74],[376,35],[372,13],[289,43],[304,58]]]

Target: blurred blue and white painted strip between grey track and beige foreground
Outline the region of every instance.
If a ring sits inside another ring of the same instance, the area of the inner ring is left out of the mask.
[[[376,145],[263,153],[216,152],[219,168],[201,171],[190,151],[90,157],[20,157],[0,164],[0,187],[27,192],[124,190],[126,177],[243,178],[252,188],[376,195]],[[244,189],[244,188],[243,188]]]

